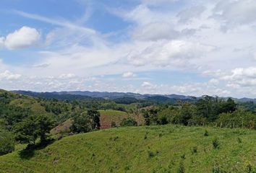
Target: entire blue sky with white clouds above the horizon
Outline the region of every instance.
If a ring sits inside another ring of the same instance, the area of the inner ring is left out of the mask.
[[[255,0],[0,0],[0,88],[256,97]]]

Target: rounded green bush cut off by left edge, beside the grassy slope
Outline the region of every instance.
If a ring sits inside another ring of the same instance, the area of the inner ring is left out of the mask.
[[[0,130],[0,156],[14,151],[15,143],[12,133]]]

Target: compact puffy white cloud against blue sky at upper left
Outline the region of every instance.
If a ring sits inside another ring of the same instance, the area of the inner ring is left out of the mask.
[[[0,45],[9,50],[28,48],[38,44],[40,33],[32,27],[22,27],[16,30],[7,37],[0,37]]]

